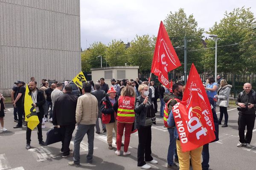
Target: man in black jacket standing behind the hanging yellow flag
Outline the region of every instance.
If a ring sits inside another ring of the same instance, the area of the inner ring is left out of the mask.
[[[42,120],[44,117],[44,108],[43,105],[45,103],[45,98],[44,94],[36,88],[37,82],[31,81],[29,82],[29,93],[31,95],[35,111],[37,113],[38,119],[39,119],[39,124],[37,125],[37,130],[38,130],[38,141],[39,144],[45,145],[43,141],[43,136],[42,136]],[[27,127],[26,129],[26,149],[30,149],[30,142],[31,142],[31,129]]]

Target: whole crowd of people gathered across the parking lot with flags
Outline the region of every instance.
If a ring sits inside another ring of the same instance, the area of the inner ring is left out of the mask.
[[[212,113],[215,124],[215,141],[218,141],[218,125],[221,125],[224,115],[224,125],[228,126],[227,107],[231,85],[218,75],[218,82],[213,77],[207,79],[205,90],[209,102],[212,105]],[[171,84],[171,81],[170,81]],[[25,83],[15,82],[12,89],[12,103],[14,105],[14,121],[17,125],[14,128],[22,127],[24,119],[24,94]],[[137,79],[122,79],[121,81],[111,79],[111,85],[105,83],[101,78],[94,83],[93,81],[83,83],[81,96],[72,94],[72,86],[65,83],[64,88],[61,82],[49,82],[41,80],[41,88],[37,85],[34,77],[28,83],[29,91],[35,110],[38,115],[39,124],[38,141],[45,145],[42,136],[42,128],[47,120],[61,129],[61,153],[62,157],[73,156],[73,161],[68,162],[70,166],[80,164],[80,143],[87,134],[88,154],[87,163],[93,161],[94,132],[100,134],[99,118],[101,119],[102,133],[107,135],[107,148],[113,150],[113,131],[116,139],[117,156],[121,156],[123,146],[123,156],[128,156],[131,133],[138,132],[137,166],[143,169],[150,169],[151,165],[158,162],[151,156],[151,126],[156,122],[157,100],[160,99],[160,117],[163,117],[164,126],[169,132],[169,148],[167,152],[167,168],[171,170],[189,170],[192,164],[193,170],[209,169],[209,144],[205,144],[195,150],[182,152],[177,128],[173,118],[172,107],[182,100],[183,82],[178,80],[173,82],[170,89],[163,85],[156,86],[154,81],[142,82]],[[252,90],[250,83],[244,84],[237,100],[239,105],[239,143],[237,147],[251,147],[252,130],[256,117],[256,92]],[[6,130],[3,126],[4,100],[0,94],[0,123],[1,130]],[[219,105],[220,116],[216,115],[216,105]],[[50,108],[50,111],[49,111]],[[48,119],[49,113],[49,119]],[[74,137],[74,148],[70,149],[70,141],[73,131],[77,125]],[[247,133],[244,130],[247,126]],[[96,131],[95,131],[96,128]],[[125,140],[122,143],[122,136]],[[26,149],[30,149],[31,130],[26,130]],[[212,142],[215,142],[212,141]],[[73,154],[71,153],[73,152]],[[201,162],[201,158],[203,161]],[[177,165],[179,163],[179,165]]]

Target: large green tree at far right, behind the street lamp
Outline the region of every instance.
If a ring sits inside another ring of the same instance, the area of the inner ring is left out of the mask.
[[[217,71],[219,73],[236,74],[241,71],[244,73],[244,71],[252,70],[252,68],[255,69],[255,62],[252,65],[249,61],[250,59],[255,61],[253,59],[255,18],[250,8],[235,8],[230,13],[226,11],[224,18],[219,23],[215,22],[207,33],[218,35],[217,45],[224,46],[217,48]],[[215,40],[209,39],[206,42],[207,47],[215,47]],[[237,45],[230,45],[236,43]],[[209,70],[214,70],[214,51],[214,48],[207,50],[203,57],[203,63]],[[246,63],[249,65],[246,65]]]

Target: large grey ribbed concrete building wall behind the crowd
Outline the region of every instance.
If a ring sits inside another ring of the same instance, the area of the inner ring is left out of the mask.
[[[0,0],[0,92],[81,71],[79,0]],[[40,83],[39,83],[40,85]]]

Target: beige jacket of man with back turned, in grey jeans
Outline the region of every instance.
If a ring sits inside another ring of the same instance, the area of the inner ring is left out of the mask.
[[[85,93],[77,100],[76,123],[95,125],[98,117],[98,100],[90,93]]]

